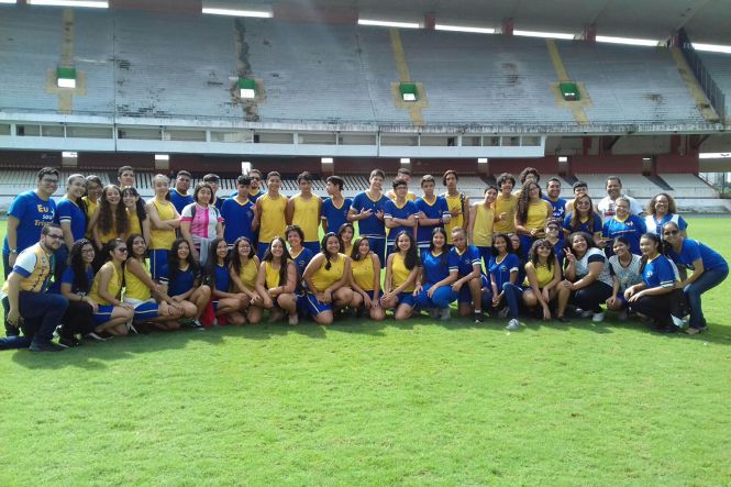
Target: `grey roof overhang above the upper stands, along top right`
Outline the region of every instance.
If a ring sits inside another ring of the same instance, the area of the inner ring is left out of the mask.
[[[433,12],[438,23],[582,34],[595,24],[599,35],[665,40],[685,27],[695,43],[731,45],[731,0],[203,0],[229,8],[351,9],[361,18],[420,22]],[[276,16],[276,14],[275,14]]]

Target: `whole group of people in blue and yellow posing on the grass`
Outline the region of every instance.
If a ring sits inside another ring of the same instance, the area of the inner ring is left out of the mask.
[[[217,175],[191,191],[190,173],[180,170],[173,188],[156,175],[145,202],[124,166],[119,185],[71,175],[55,202],[59,173],[46,167],[8,212],[0,348],[57,351],[82,336],[257,323],[265,314],[291,324],[383,320],[389,310],[396,320],[414,312],[446,320],[455,301],[459,316],[508,319],[509,330],[521,326],[521,313],[567,322],[571,310],[598,322],[603,308],[663,331],[706,329],[701,295],[727,277],[728,264],[688,239],[669,195],[642,208],[612,176],[596,204],[583,181],[566,201],[561,179],[544,193],[540,177],[525,168],[514,190],[516,177],[501,174],[473,204],[451,169],[443,195],[427,175],[420,197],[407,169],[387,193],[375,169],[352,200],[339,176],[326,178],[323,199],[301,173],[299,192],[287,198],[279,173],[263,180],[252,169],[221,198]]]

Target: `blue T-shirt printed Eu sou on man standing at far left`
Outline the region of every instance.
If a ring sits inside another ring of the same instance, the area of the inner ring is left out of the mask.
[[[41,240],[41,230],[48,223],[53,223],[55,214],[56,202],[53,199],[43,201],[35,191],[21,192],[15,197],[13,202],[10,203],[8,217],[15,217],[20,220],[16,231],[18,239],[15,241],[18,253],[38,243]],[[10,254],[8,235],[5,235],[2,244],[2,254]]]

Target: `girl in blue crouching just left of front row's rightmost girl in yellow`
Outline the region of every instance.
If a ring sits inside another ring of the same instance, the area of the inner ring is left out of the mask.
[[[490,276],[490,289],[492,290],[492,308],[498,310],[503,308],[507,312],[499,313],[510,318],[508,330],[518,330],[520,321],[518,313],[520,311],[520,301],[523,297],[523,288],[518,280],[519,269],[521,267],[520,258],[512,253],[512,242],[503,233],[498,233],[492,237],[492,258],[488,265]]]

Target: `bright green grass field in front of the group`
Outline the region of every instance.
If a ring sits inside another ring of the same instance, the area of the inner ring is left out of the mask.
[[[730,231],[690,220],[727,257]],[[2,352],[0,485],[731,485],[730,294],[697,336],[420,318]]]

